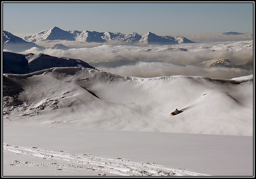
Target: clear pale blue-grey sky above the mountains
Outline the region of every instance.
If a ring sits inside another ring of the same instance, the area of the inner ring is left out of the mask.
[[[253,33],[254,4],[248,3],[8,3],[2,29],[24,37],[57,26],[97,32]]]

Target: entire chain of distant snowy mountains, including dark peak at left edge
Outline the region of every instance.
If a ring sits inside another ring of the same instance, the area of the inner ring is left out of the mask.
[[[67,40],[67,41],[84,41],[84,42],[109,42],[109,41],[123,41],[123,42],[138,42],[146,44],[160,44],[160,45],[173,45],[181,43],[195,43],[183,36],[171,37],[171,36],[158,36],[154,33],[147,32],[144,35],[139,35],[136,32],[133,33],[112,33],[112,32],[96,32],[96,31],[77,31],[70,30],[65,31],[59,27],[53,27],[50,30],[44,30],[36,33],[35,35],[26,36],[20,38],[13,35],[12,33],[3,30],[3,49],[11,50],[12,52],[22,52],[32,47],[37,47],[40,50],[44,50],[44,47],[38,46],[34,42],[43,40]],[[63,46],[62,44],[56,44],[51,49],[62,49],[67,50],[69,47]]]

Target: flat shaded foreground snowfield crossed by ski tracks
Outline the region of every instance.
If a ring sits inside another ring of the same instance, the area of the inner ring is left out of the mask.
[[[2,168],[3,176],[252,176],[253,137],[3,126]]]

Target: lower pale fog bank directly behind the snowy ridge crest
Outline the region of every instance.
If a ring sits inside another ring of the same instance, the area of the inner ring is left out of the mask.
[[[232,79],[253,74],[252,70],[247,71],[240,68],[202,68],[192,65],[179,66],[163,62],[138,62],[135,65],[124,65],[116,68],[99,67],[99,69],[113,74],[139,77],[184,75]]]

